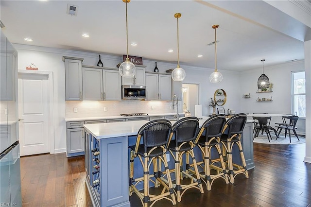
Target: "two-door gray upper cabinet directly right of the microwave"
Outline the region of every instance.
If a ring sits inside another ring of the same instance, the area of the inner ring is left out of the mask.
[[[146,100],[171,101],[171,75],[146,73]]]

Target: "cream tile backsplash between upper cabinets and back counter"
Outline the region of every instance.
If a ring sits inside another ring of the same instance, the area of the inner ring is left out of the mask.
[[[181,112],[180,105],[179,102],[179,112]],[[120,116],[130,113],[175,113],[176,109],[170,106],[172,102],[168,101],[67,101],[66,118]],[[104,111],[104,107],[107,111]],[[74,112],[74,108],[77,108],[77,112]]]

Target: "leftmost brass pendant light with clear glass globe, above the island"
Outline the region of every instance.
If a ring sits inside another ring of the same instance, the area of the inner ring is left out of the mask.
[[[125,9],[126,9],[126,59],[123,63],[121,63],[119,67],[119,73],[121,76],[125,78],[133,78],[136,73],[136,67],[133,63],[130,62],[128,58],[128,31],[127,31],[127,3],[131,0],[122,0],[125,2]]]

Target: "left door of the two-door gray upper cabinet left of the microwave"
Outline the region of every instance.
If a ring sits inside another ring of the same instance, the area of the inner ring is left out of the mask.
[[[103,69],[82,68],[83,100],[103,100]]]

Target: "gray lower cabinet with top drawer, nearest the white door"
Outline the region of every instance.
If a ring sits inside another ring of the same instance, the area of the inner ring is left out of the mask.
[[[84,121],[67,122],[67,156],[84,155]]]

